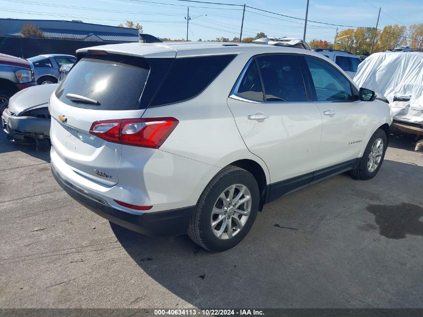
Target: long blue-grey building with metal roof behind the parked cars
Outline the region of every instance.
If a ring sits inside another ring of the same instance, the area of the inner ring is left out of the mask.
[[[26,24],[41,29],[47,38],[84,40],[94,35],[105,42],[138,42],[138,30],[76,21],[0,19],[0,36],[22,36]]]

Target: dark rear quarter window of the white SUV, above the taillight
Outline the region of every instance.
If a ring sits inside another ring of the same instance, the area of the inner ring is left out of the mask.
[[[234,57],[219,55],[175,59],[151,106],[194,98],[207,88]]]

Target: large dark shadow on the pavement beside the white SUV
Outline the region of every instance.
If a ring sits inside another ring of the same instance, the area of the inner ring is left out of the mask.
[[[412,238],[423,235],[423,202],[410,198],[422,177],[423,167],[390,160],[369,181],[341,174],[266,205],[245,239],[220,253],[200,248],[187,235],[148,237],[110,225],[140,273],[197,307],[412,305],[384,302],[383,292],[374,291],[409,289],[412,274],[379,267],[386,254],[389,263],[402,263],[423,251]],[[404,213],[404,203],[411,213]],[[393,214],[395,221],[388,221]],[[390,225],[395,236],[386,235]],[[398,246],[398,236],[412,244]]]

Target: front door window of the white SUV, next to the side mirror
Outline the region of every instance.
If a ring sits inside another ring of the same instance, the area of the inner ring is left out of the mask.
[[[352,101],[350,82],[330,64],[305,58],[316,89],[317,101]]]

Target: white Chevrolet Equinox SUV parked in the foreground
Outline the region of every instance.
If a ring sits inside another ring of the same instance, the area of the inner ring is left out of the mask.
[[[377,173],[392,119],[374,98],[302,49],[81,49],[50,99],[52,171],[112,222],[222,251],[265,203],[345,171]]]

